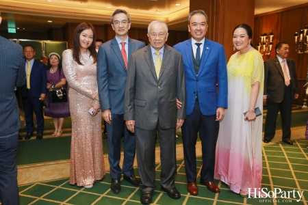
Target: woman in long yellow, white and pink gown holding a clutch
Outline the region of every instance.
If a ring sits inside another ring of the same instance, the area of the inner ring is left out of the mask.
[[[231,191],[248,197],[248,188],[261,188],[264,62],[251,46],[253,31],[246,24],[233,29],[233,54],[227,65],[228,109],[220,123],[215,178]],[[246,112],[246,115],[243,113]]]

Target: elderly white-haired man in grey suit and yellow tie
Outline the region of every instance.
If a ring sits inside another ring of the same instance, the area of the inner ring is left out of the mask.
[[[151,204],[155,181],[155,138],[159,133],[162,172],[160,184],[169,197],[179,199],[175,188],[177,163],[175,131],[186,118],[185,76],[181,53],[165,44],[166,23],[149,24],[151,44],[131,55],[125,90],[127,128],[135,132],[138,169],[142,183],[140,202]],[[177,109],[177,98],[183,102]]]

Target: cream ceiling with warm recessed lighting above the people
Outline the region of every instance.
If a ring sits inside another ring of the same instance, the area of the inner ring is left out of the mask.
[[[147,27],[151,20],[164,20],[171,30],[186,30],[189,2],[189,0],[53,0],[52,2],[1,0],[0,12],[3,23],[0,29],[7,29],[10,25],[20,29],[25,28],[27,31],[48,31],[50,27],[62,27],[66,22],[81,23],[85,20],[93,24],[105,24],[110,23],[112,12],[120,8],[129,12],[133,27]],[[307,0],[255,0],[255,14],[307,2]],[[175,3],[181,5],[177,6]],[[47,23],[47,20],[52,20],[52,23]]]

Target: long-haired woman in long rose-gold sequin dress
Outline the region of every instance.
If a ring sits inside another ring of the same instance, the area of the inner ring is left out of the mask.
[[[90,23],[75,29],[73,50],[63,52],[63,70],[70,86],[72,142],[70,146],[70,184],[92,188],[105,175],[101,115],[97,114],[97,52],[95,31]],[[88,112],[94,108],[94,115]]]

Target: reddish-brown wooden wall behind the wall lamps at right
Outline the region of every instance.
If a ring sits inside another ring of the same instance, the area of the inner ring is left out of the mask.
[[[288,42],[290,46],[289,57],[294,59],[296,64],[296,75],[298,78],[299,97],[295,100],[298,105],[303,105],[305,98],[305,89],[308,69],[308,54],[298,54],[295,51],[294,33],[308,25],[308,4],[298,5],[294,8],[287,8],[268,14],[255,16],[255,27],[253,35],[254,41],[259,38],[261,33],[268,33],[270,29],[274,33],[274,46],[280,41]],[[304,46],[306,49],[306,46]],[[274,49],[273,49],[274,50]],[[264,56],[264,60],[275,57],[275,51],[270,53],[270,57]]]

